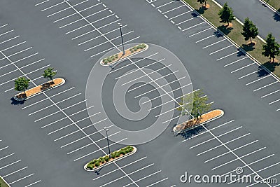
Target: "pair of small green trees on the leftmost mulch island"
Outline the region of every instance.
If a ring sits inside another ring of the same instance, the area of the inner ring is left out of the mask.
[[[45,69],[43,73],[44,78],[49,78],[50,81],[53,83],[53,77],[57,74],[57,72],[53,71],[53,67],[49,67],[48,69]],[[29,87],[30,80],[25,77],[20,77],[17,80],[15,80],[15,90],[19,92],[25,92],[27,88]],[[26,94],[25,94],[26,95]]]

